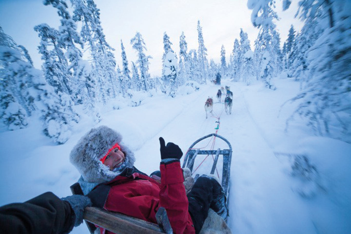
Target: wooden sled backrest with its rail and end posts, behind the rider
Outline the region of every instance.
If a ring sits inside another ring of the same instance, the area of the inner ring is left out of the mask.
[[[78,182],[74,183],[70,188],[72,194],[84,195]],[[83,219],[85,220],[91,234],[94,234],[95,230],[97,229],[95,225],[118,234],[173,234],[173,230],[164,207],[160,207],[156,213],[156,220],[158,224],[97,207],[86,207],[84,210]]]

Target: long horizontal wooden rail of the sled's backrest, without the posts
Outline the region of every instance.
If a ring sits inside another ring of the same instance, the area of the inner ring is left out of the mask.
[[[97,207],[87,207],[84,210],[83,219],[103,227],[113,233],[119,234],[161,234],[158,225],[130,216],[108,212]]]

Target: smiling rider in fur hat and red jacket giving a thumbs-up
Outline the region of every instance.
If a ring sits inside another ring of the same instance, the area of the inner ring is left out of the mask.
[[[220,184],[200,176],[186,195],[180,167],[183,152],[172,142],[166,145],[161,137],[159,141],[161,183],[133,166],[134,154],[118,132],[100,126],[84,135],[72,149],[70,161],[80,172],[78,182],[93,206],[154,223],[157,210],[164,207],[176,234],[199,233],[209,208],[226,219]]]

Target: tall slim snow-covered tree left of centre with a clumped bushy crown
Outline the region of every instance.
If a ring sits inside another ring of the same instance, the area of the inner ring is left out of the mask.
[[[135,36],[131,39],[131,45],[133,45],[133,49],[135,49],[138,53],[138,61],[137,65],[140,71],[140,79],[142,82],[142,89],[146,92],[150,89],[149,80],[149,59],[151,56],[146,56],[144,50],[146,51],[145,42],[143,37],[139,32],[135,34]]]

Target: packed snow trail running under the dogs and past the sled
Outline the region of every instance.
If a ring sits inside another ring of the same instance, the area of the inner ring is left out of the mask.
[[[163,136],[166,142],[176,142],[185,154],[192,142],[216,131],[214,128],[217,126],[215,123],[217,119],[205,118],[204,102],[208,96],[212,96],[214,102],[217,102],[216,93],[219,86],[205,87],[197,96],[188,100],[189,104],[182,109],[181,113],[159,129],[160,131],[136,152],[136,166],[138,168],[147,173],[158,170],[158,165],[155,165],[154,168],[143,168],[143,165],[148,165],[149,160],[158,160],[159,136]],[[233,148],[229,198],[229,225],[232,232],[314,233],[308,213],[300,210],[300,207],[304,205],[296,206],[297,203],[302,202],[291,191],[289,180],[283,173],[282,166],[274,156],[271,146],[261,134],[261,130],[248,111],[240,89],[232,83],[231,90],[234,94],[232,114],[225,113],[222,103],[214,103],[213,114],[220,115],[218,134],[229,140]],[[217,143],[220,144],[220,142],[216,141],[214,147],[216,149],[218,148]],[[223,145],[220,148],[223,148]],[[146,151],[147,155],[153,156],[145,158]],[[201,160],[199,159],[199,161]],[[202,168],[201,171],[199,168],[197,173],[209,172],[209,165],[212,165],[211,159],[207,159],[207,163],[204,164],[205,169]],[[219,165],[221,165],[220,162]],[[196,168],[196,163],[194,168]],[[221,168],[218,169],[221,173]],[[284,196],[280,194],[284,194]],[[281,207],[285,207],[285,209],[282,210]],[[257,213],[257,210],[260,210],[260,213]],[[292,216],[294,216],[294,221],[301,225],[286,225],[286,219],[288,217],[290,219]],[[301,227],[304,227],[304,230]]]

